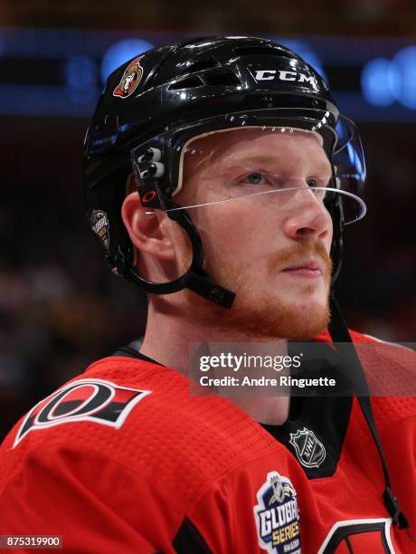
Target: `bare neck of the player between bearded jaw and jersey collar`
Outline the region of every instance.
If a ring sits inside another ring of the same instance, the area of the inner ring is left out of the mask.
[[[252,356],[256,356],[258,349],[258,354],[264,355],[264,343],[267,342],[273,343],[272,349],[275,356],[285,355],[288,351],[286,340],[255,333],[249,335],[247,332],[221,328],[215,326],[212,320],[203,320],[201,317],[193,318],[189,311],[185,313],[168,310],[164,302],[149,303],[147,330],[140,351],[166,367],[188,376],[193,373],[189,359],[191,343],[212,345],[226,342],[252,343],[252,348],[250,348]],[[257,349],[256,342],[260,343]],[[214,354],[221,353],[218,348],[218,346],[214,347]],[[216,375],[213,377],[222,377],[220,371],[220,369],[216,369]],[[261,377],[262,375],[263,373],[251,377]],[[270,375],[266,377],[276,377],[276,372],[270,369]],[[260,423],[282,425],[288,418],[289,396],[228,396],[228,393],[222,396],[229,397],[233,404],[240,406],[246,414]]]

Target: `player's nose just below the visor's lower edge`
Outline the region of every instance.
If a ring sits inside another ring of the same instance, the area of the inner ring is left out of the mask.
[[[322,199],[306,186],[292,198],[283,229],[293,240],[326,241],[332,237],[332,219]]]

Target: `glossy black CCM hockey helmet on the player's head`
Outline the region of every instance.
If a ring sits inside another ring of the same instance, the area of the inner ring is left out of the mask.
[[[361,143],[354,124],[346,120],[340,126],[340,122],[322,77],[298,54],[269,40],[194,39],[149,50],[126,62],[109,76],[85,139],[88,218],[113,272],[137,282],[144,291],[189,288],[230,307],[232,291],[203,272],[198,231],[187,210],[174,203],[184,146],[194,137],[243,126],[315,131],[333,167],[331,186],[342,189],[347,176],[355,181],[356,191],[365,174]],[[121,205],[132,172],[142,204],[164,209],[191,239],[193,262],[175,281],[147,282],[131,263],[133,248]],[[334,221],[336,275],[343,225],[362,217],[365,206],[358,203],[350,220],[340,195],[328,196],[326,207]]]

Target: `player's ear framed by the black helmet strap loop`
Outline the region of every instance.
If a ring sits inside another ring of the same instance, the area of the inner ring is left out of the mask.
[[[149,214],[135,191],[124,199],[121,216],[138,251],[152,254],[160,260],[175,260],[172,225],[165,212],[153,210]]]

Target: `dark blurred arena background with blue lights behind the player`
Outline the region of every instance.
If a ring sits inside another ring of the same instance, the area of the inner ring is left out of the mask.
[[[251,34],[336,91],[367,154],[369,214],[346,228],[350,327],[416,340],[416,8],[411,0],[0,2],[0,438],[92,360],[137,339],[146,304],[109,274],[83,215],[81,146],[103,81],[151,45]]]

